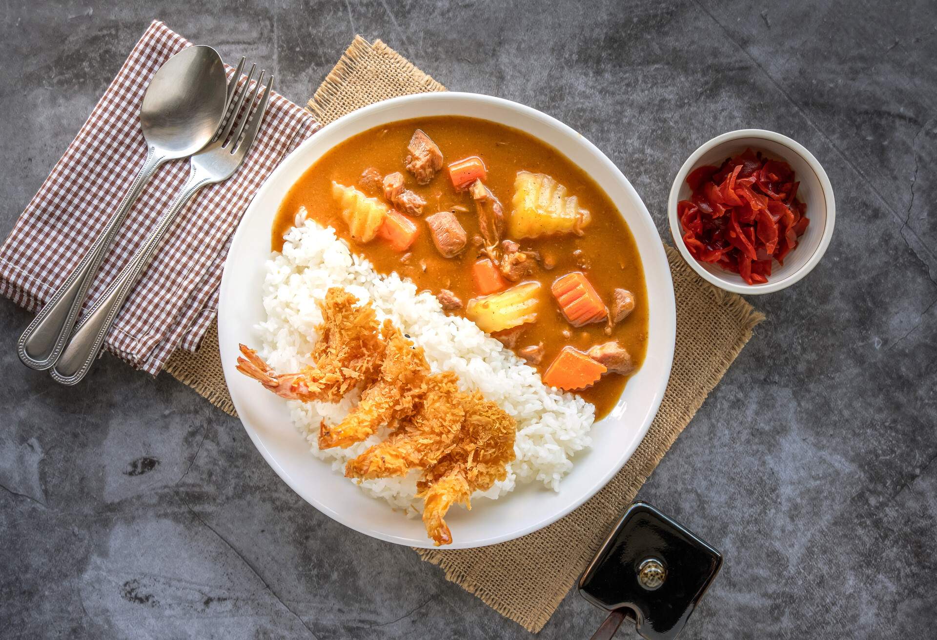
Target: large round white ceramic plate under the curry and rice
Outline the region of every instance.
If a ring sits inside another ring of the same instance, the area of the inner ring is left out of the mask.
[[[323,127],[290,154],[260,187],[231,244],[221,281],[218,340],[225,378],[247,433],[277,474],[320,512],[369,536],[392,543],[432,546],[419,518],[371,499],[331,465],[308,451],[290,424],[286,402],[234,368],[238,343],[258,345],[254,329],[264,320],[261,284],[270,255],[276,210],[290,186],[335,144],[371,127],[408,118],[463,115],[515,127],[546,141],[579,165],[605,190],[632,230],[647,279],[650,327],[647,359],[629,380],[612,413],[592,427],[591,449],[574,458],[559,492],[525,485],[498,500],[477,499],[446,516],[454,543],[468,548],[500,543],[545,527],[589,499],[637,448],[661,404],[674,357],[677,316],[670,268],[647,207],[616,166],[591,142],[554,118],[520,104],[476,94],[436,93],[399,97],[352,112]],[[510,201],[510,194],[500,194]]]

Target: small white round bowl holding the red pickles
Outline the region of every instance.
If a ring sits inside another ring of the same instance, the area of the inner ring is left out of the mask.
[[[719,166],[727,157],[736,156],[747,148],[755,152],[761,151],[767,157],[784,160],[791,165],[795,180],[800,182],[797,198],[807,204],[806,216],[811,221],[807,231],[800,236],[796,248],[787,254],[783,266],[775,261],[768,281],[757,285],[748,284],[741,275],[726,271],[718,264],[700,262],[693,258],[687,246],[683,244],[683,229],[677,217],[677,202],[689,200],[692,195],[690,186],[687,185],[687,176],[691,171],[704,165]],[[823,258],[826,246],[833,236],[836,202],[826,171],[802,144],[774,131],[740,129],[713,138],[687,158],[680,171],[677,171],[674,186],[670,187],[667,215],[670,218],[670,233],[674,236],[674,244],[693,271],[721,289],[735,293],[759,294],[790,287],[811,273],[811,269]]]

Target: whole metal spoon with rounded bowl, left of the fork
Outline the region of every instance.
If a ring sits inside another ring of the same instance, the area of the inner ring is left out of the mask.
[[[140,111],[146,161],[88,253],[20,336],[17,352],[24,365],[42,370],[55,364],[101,260],[143,186],[164,162],[191,156],[212,140],[229,99],[224,64],[211,47],[184,49],[156,70]]]

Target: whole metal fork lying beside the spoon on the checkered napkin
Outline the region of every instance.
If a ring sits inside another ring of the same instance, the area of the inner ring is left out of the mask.
[[[238,67],[238,71],[240,68]],[[117,312],[176,216],[202,187],[227,180],[244,161],[247,150],[257,137],[274,84],[274,76],[271,75],[255,107],[254,103],[257,101],[260,85],[266,73],[265,70],[260,71],[257,83],[251,89],[250,82],[256,69],[257,65],[253,65],[247,75],[247,80],[235,89],[238,96],[237,99],[231,101],[233,106],[228,114],[227,125],[219,129],[215,139],[208,146],[192,156],[192,170],[188,180],[182,186],[176,199],[172,201],[169,211],[160,218],[156,230],[146,239],[117,279],[105,290],[100,300],[89,309],[82,323],[75,328],[65,350],[52,369],[52,379],[71,385],[84,378],[94,363]],[[246,101],[244,112],[241,113],[245,97],[248,95],[250,99]]]

